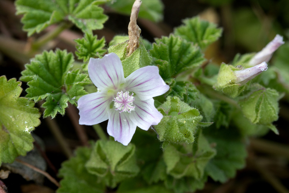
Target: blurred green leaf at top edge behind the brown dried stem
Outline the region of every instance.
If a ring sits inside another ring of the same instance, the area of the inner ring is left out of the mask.
[[[115,12],[130,15],[133,4],[134,0],[118,0],[107,3],[106,5],[112,8]],[[138,17],[158,22],[163,19],[163,9],[164,5],[160,0],[142,1]]]

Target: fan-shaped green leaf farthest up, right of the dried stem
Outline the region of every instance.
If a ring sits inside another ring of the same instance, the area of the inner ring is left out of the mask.
[[[201,20],[198,16],[183,20],[184,25],[175,28],[174,34],[199,45],[201,49],[218,40],[222,28],[217,28],[214,23]]]

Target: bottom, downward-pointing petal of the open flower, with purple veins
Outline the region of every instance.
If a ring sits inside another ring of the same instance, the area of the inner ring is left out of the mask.
[[[127,146],[136,132],[136,124],[129,119],[127,112],[119,113],[119,111],[111,109],[108,114],[108,135]]]

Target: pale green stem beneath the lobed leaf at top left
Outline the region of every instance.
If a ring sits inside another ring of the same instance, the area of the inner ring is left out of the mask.
[[[42,45],[56,38],[63,30],[66,30],[72,26],[71,23],[61,23],[54,30],[47,32],[40,38],[38,38],[34,43],[32,43],[32,49],[38,49]]]

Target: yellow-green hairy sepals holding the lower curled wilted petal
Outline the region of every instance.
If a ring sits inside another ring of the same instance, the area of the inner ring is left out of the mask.
[[[231,98],[236,98],[246,88],[246,84],[235,83],[238,78],[235,76],[234,70],[240,70],[240,68],[222,63],[217,83],[214,85],[215,90],[222,91]]]

